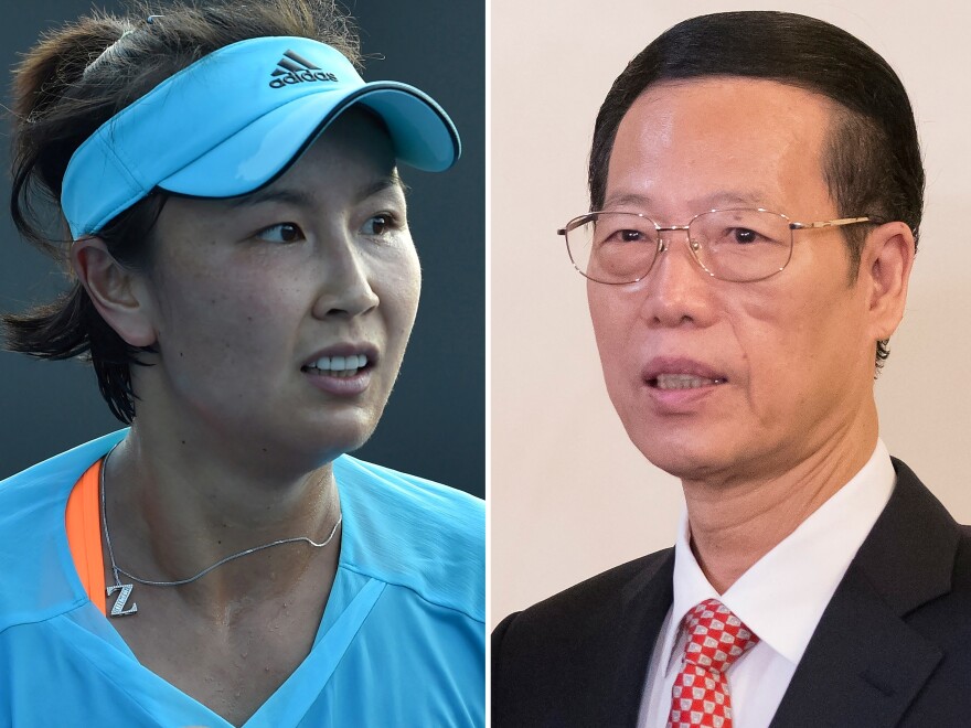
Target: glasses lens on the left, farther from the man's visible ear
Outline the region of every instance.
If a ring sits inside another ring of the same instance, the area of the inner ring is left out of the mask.
[[[658,254],[654,224],[634,213],[591,213],[567,229],[574,265],[587,278],[629,283],[644,277]]]

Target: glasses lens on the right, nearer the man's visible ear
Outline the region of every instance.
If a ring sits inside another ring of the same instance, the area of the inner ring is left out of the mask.
[[[749,281],[780,271],[792,254],[789,221],[765,210],[715,210],[691,222],[692,248],[722,280]]]

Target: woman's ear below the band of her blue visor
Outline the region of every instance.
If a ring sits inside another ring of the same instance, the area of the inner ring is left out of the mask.
[[[75,240],[71,265],[98,313],[121,339],[132,346],[156,343],[143,276],[119,264],[99,237]]]

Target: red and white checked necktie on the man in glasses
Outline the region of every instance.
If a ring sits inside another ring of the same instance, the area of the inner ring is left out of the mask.
[[[717,599],[684,615],[687,646],[671,688],[668,728],[732,728],[732,699],[725,671],[758,642]]]

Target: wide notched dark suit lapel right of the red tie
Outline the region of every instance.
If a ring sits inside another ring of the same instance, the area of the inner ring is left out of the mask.
[[[941,651],[905,617],[950,591],[960,532],[901,462],[897,484],[813,633],[772,726],[894,726]]]

